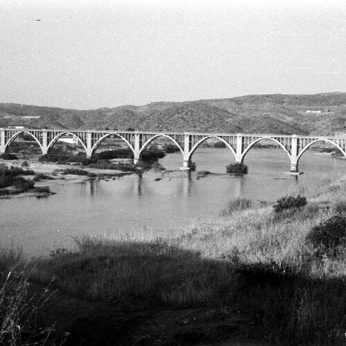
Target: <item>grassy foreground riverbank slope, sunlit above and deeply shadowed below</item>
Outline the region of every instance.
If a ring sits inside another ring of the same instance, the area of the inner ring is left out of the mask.
[[[82,237],[31,260],[28,280],[58,290],[42,327],[64,317],[48,341],[343,345],[345,192],[340,181],[274,204],[236,199],[174,237]]]

